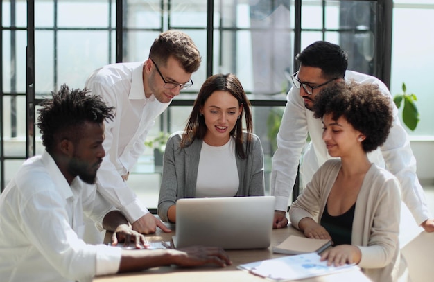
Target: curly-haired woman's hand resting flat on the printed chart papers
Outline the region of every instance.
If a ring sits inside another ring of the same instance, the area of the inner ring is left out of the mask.
[[[361,257],[361,250],[353,245],[338,245],[321,253],[321,261],[327,260],[327,265],[334,264],[335,266],[359,263]]]

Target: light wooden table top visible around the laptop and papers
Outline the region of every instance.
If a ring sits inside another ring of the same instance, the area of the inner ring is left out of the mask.
[[[172,229],[171,233],[164,233],[157,229],[157,233],[146,236],[150,242],[170,241],[171,237],[175,235],[175,224],[167,224]],[[245,250],[227,250],[229,258],[231,258],[232,265],[227,267],[177,267],[164,266],[155,267],[141,272],[130,272],[122,274],[113,274],[107,276],[98,276],[94,278],[96,282],[130,282],[130,281],[243,281],[243,282],[265,282],[269,281],[259,276],[254,276],[248,272],[238,270],[236,267],[243,263],[251,263],[254,261],[263,261],[269,258],[279,258],[285,256],[284,254],[274,254],[272,246],[278,245],[283,240],[288,238],[289,235],[303,236],[303,234],[290,225],[283,229],[273,229],[270,247],[267,249],[245,249]],[[110,241],[110,235],[106,235],[105,240]],[[328,282],[328,281],[351,281],[351,282],[366,282],[370,281],[359,270],[350,270],[347,272],[340,272],[336,274],[329,274],[326,276],[318,276],[310,279],[302,279],[303,282]]]

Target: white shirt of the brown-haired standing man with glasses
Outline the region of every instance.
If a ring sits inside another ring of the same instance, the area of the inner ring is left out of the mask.
[[[169,105],[160,103],[153,95],[145,97],[143,64],[110,64],[94,71],[85,85],[93,95],[101,96],[108,106],[115,107],[114,120],[105,122],[103,146],[107,155],[98,170],[98,191],[131,223],[148,213],[148,209],[121,176],[143,154],[155,118]]]

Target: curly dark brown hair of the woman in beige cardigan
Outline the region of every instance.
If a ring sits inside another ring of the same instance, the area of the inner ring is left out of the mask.
[[[390,97],[378,85],[350,81],[322,89],[315,98],[313,111],[315,118],[324,114],[332,114],[335,121],[345,117],[355,130],[365,135],[363,150],[371,152],[388,138],[393,121],[390,105]]]

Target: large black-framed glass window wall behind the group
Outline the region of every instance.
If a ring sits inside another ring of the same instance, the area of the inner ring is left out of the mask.
[[[277,133],[272,129],[278,128],[279,114],[291,86],[289,77],[297,69],[295,54],[315,40],[328,40],[349,52],[350,69],[389,80],[384,71],[389,60],[382,32],[390,24],[387,17],[379,14],[388,2],[1,1],[0,155],[8,159],[0,162],[1,188],[13,175],[15,164],[43,150],[39,132],[32,127],[38,100],[64,83],[82,88],[87,76],[105,64],[146,60],[159,33],[178,29],[193,38],[202,55],[202,65],[193,73],[193,87],[175,98],[158,118],[148,139],[184,128],[193,100],[208,76],[235,73],[252,101],[254,133],[261,138],[266,154],[268,193]],[[32,40],[34,46],[28,45]],[[32,52],[34,62],[32,56],[26,59],[26,53]],[[29,72],[32,63],[34,71]],[[28,78],[34,81],[34,97],[26,97]],[[27,146],[24,142],[34,135],[35,146]],[[12,146],[18,148],[15,155]],[[161,165],[155,165],[155,158],[153,149],[147,148],[128,180],[150,208],[157,205],[161,177]]]

